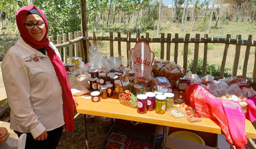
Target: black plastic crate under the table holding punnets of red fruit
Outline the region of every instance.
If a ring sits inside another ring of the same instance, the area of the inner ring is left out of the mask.
[[[139,133],[139,132],[135,132],[133,130],[121,129],[118,126],[112,126],[102,144],[104,148],[107,148],[106,143],[108,143],[108,138],[112,133],[126,135],[127,136],[126,140],[129,140],[129,139],[132,140],[132,142],[129,143],[130,146],[125,146],[125,148],[132,148],[134,141],[139,142],[142,145],[145,142],[150,143],[152,145],[152,147],[150,147],[150,148],[152,148],[152,149],[154,149],[154,147],[155,147],[155,136],[156,135],[154,133]],[[126,142],[124,144],[126,144]]]

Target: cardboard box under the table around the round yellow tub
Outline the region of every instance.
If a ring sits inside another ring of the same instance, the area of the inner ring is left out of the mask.
[[[169,149],[195,149],[195,148],[200,148],[200,149],[216,149],[216,148],[221,148],[221,149],[230,149],[230,144],[226,142],[226,137],[225,135],[221,134],[213,134],[213,133],[205,133],[203,131],[195,131],[195,130],[187,130],[187,129],[179,129],[175,127],[168,127],[167,132],[168,134],[171,134],[172,132],[175,131],[190,131],[192,133],[195,133],[199,135],[205,142],[205,146],[199,143],[194,143],[194,142],[189,142],[187,140],[183,139],[178,139],[174,138],[172,136],[167,136],[166,138],[166,148]],[[155,131],[156,134],[163,134],[163,126],[160,126],[156,128]]]

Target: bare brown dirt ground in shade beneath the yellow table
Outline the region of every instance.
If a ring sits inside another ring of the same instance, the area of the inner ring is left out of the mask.
[[[88,130],[88,143],[90,149],[104,148],[102,146],[106,135],[113,126],[111,122],[105,122],[102,117],[94,117],[94,121],[90,118],[86,119]],[[256,139],[248,139],[246,149],[256,148]],[[156,140],[155,149],[160,149],[162,139]],[[69,133],[67,130],[63,131],[59,145],[57,149],[80,149],[85,148],[85,129],[84,129],[84,116],[77,114],[75,118],[74,132]],[[234,149],[234,146],[230,146],[230,149]]]

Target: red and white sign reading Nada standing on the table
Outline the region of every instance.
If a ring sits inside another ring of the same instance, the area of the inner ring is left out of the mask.
[[[138,42],[131,49],[131,70],[152,76],[155,53],[151,52],[147,43]]]

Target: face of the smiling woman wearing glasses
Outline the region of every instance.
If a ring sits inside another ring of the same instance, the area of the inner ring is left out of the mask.
[[[30,14],[27,15],[27,18],[24,23],[38,23],[38,22],[44,22],[43,18],[37,14]],[[38,28],[38,26],[34,26],[32,29],[27,29],[27,31],[30,33],[32,38],[34,38],[36,41],[40,42],[44,35],[46,35],[46,27],[44,28]]]

